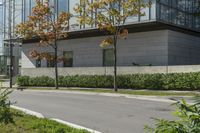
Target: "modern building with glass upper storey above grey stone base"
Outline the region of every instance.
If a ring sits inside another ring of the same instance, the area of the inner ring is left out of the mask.
[[[3,8],[5,27],[8,24],[6,1],[4,0]],[[79,14],[73,9],[79,2],[80,0],[50,0],[58,14],[66,11],[74,15],[69,23],[70,39],[61,40],[58,44],[59,55],[68,58],[66,62],[59,63],[59,67],[111,66],[112,49],[99,47],[104,34],[99,32],[95,25],[74,25],[77,24],[76,16]],[[28,19],[34,4],[35,0],[12,0],[13,33],[16,24]],[[200,64],[199,0],[152,0],[151,7],[142,9],[142,12],[146,15],[132,16],[126,21],[130,33],[126,40],[120,40],[118,43],[118,66]],[[4,39],[7,39],[6,35]],[[50,48],[37,47],[34,41],[24,42],[21,52],[24,75],[36,68],[53,67],[53,63],[46,60],[30,58],[29,51],[33,48],[53,52]]]

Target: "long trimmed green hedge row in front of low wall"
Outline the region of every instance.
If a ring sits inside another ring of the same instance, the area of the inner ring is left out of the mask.
[[[20,86],[54,86],[54,79],[46,76],[17,78]],[[119,75],[119,88],[200,90],[200,73]],[[60,76],[60,87],[112,88],[112,76]]]

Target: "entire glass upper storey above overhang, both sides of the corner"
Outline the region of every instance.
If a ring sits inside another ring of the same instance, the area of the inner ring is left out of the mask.
[[[8,24],[8,0],[2,0],[4,4],[4,26]],[[92,1],[92,0],[91,0]],[[144,0],[148,3],[150,0]],[[148,22],[148,21],[161,21],[183,28],[189,28],[192,30],[200,31],[200,17],[196,14],[200,11],[199,0],[151,0],[151,6],[145,9],[141,9],[145,13],[144,16],[135,15],[126,20],[127,24]],[[50,5],[54,6],[56,16],[62,12],[70,12],[73,17],[70,19],[70,30],[80,30],[85,28],[95,28],[95,25],[83,25],[79,26],[77,22],[77,16],[74,11],[76,4],[80,3],[80,0],[49,0]],[[28,16],[31,15],[31,9],[35,5],[35,0],[12,0],[13,9],[13,32],[14,27],[20,22],[26,21]],[[1,10],[1,8],[0,8]],[[95,14],[91,17],[95,19]],[[6,30],[6,29],[5,29]],[[13,34],[14,36],[14,34]],[[4,38],[7,38],[4,35]]]

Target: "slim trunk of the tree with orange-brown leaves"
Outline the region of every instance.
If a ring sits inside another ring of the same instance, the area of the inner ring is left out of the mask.
[[[55,63],[55,88],[58,89],[58,63],[57,63],[57,60],[58,60],[58,46],[57,46],[57,42],[55,41],[55,49],[54,49],[54,53],[55,53],[55,59],[54,59],[54,63]]]

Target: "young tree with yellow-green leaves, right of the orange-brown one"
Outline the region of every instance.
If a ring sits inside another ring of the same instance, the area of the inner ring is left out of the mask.
[[[101,47],[113,47],[114,52],[114,90],[117,89],[117,43],[119,38],[125,39],[128,29],[125,28],[127,18],[144,16],[144,8],[151,5],[151,0],[80,0],[75,11],[80,14],[81,25],[96,25],[108,36],[102,41]],[[95,16],[95,17],[92,17]]]

